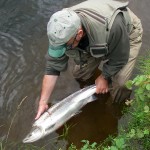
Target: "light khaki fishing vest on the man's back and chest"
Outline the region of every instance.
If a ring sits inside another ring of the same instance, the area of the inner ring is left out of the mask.
[[[87,0],[70,7],[81,18],[89,38],[89,51],[93,57],[102,57],[108,53],[108,39],[117,14],[122,13],[127,31],[130,32],[128,2],[114,0]]]

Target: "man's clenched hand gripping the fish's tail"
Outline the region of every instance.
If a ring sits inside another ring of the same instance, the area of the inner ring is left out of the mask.
[[[103,75],[100,75],[96,80],[95,80],[95,84],[96,84],[96,93],[100,94],[100,93],[107,93],[108,92],[108,81],[106,79],[104,79]]]

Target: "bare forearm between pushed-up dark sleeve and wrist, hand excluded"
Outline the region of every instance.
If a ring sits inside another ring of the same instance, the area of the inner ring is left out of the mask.
[[[57,78],[58,76],[55,75],[44,75],[40,103],[48,103],[48,99],[52,94]]]

